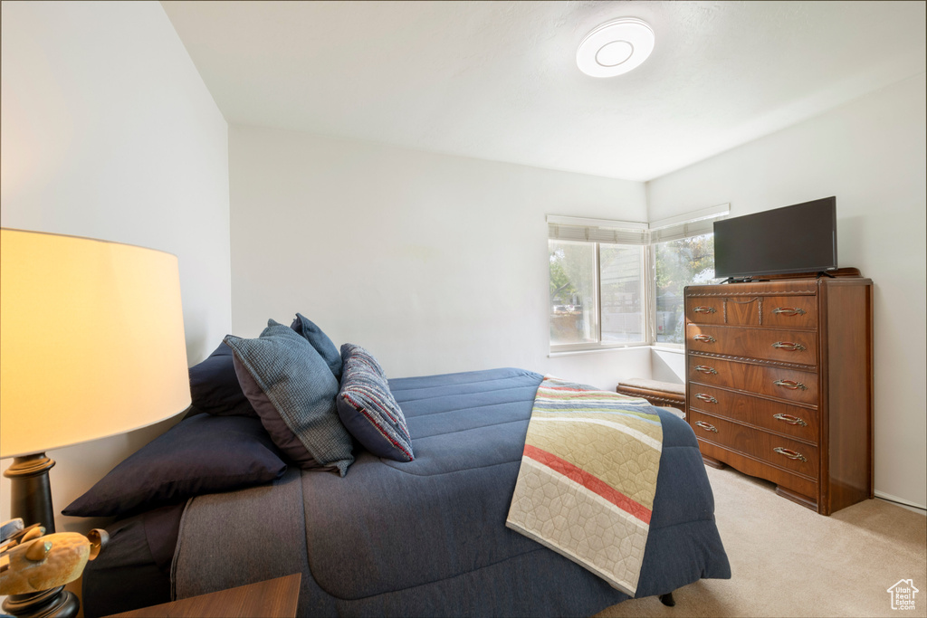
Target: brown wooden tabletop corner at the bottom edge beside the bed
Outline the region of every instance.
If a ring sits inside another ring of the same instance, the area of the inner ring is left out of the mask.
[[[296,618],[301,577],[286,575],[108,618]]]

